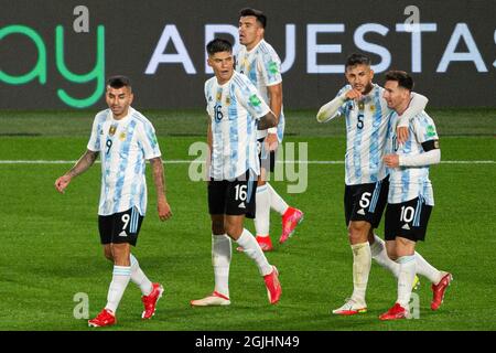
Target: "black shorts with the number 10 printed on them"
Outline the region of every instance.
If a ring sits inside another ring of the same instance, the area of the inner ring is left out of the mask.
[[[397,236],[413,242],[425,239],[427,225],[433,206],[416,197],[403,203],[390,203],[386,210],[385,239]]]

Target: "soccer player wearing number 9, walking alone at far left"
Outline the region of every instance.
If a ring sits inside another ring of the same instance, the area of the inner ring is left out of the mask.
[[[163,292],[162,285],[151,282],[131,254],[147,212],[145,160],[152,168],[157,189],[159,217],[171,217],[165,197],[165,181],[159,142],[151,122],[130,105],[133,99],[128,77],[114,76],[107,81],[105,95],[109,109],[98,113],[93,124],[86,152],[77,163],[55,181],[58,192],[71,181],[101,159],[101,192],[98,207],[98,228],[105,257],[114,263],[114,275],[108,289],[107,304],[98,315],[88,321],[90,327],[116,323],[116,310],[132,280],[141,289],[144,304],[142,319],[155,312],[157,301]]]

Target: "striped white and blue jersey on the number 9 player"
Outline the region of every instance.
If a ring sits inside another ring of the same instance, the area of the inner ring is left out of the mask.
[[[99,215],[110,215],[136,206],[147,212],[145,160],[161,156],[155,130],[139,111],[114,119],[110,109],[98,113],[93,122],[88,150],[100,152],[101,191]]]

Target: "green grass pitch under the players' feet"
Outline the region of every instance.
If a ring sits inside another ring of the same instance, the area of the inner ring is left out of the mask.
[[[421,278],[420,318],[380,322],[396,300],[393,277],[377,264],[369,278],[368,313],[330,312],[351,295],[352,253],[343,216],[344,165],[308,164],[308,189],[288,194],[305,212],[304,222],[283,246],[268,254],[280,270],[281,301],[271,307],[255,264],[234,250],[231,306],[191,308],[191,299],[213,290],[211,229],[204,182],[192,182],[187,163],[166,163],[173,211],[161,223],[149,176],[149,211],[133,254],[153,281],[164,285],[157,314],[141,321],[139,289],[130,282],[108,330],[495,330],[496,188],[495,109],[432,110],[443,161],[431,168],[435,207],[427,242],[418,250],[454,276],[445,302],[430,310],[431,290]],[[0,111],[0,161],[76,160],[86,148],[95,111]],[[310,161],[342,161],[344,121],[319,125],[314,111],[288,111],[288,142],[306,142]],[[191,143],[205,140],[201,111],[150,111],[165,161],[191,160]],[[1,253],[0,330],[90,330],[76,319],[76,293],[89,298],[93,318],[106,303],[111,264],[103,256],[97,229],[100,165],[78,176],[64,195],[53,188],[71,164],[0,162]],[[149,172],[149,171],[148,171]],[[252,222],[246,225],[254,229]],[[382,236],[382,226],[379,235]],[[280,217],[272,213],[272,240]],[[94,329],[93,329],[94,330]]]

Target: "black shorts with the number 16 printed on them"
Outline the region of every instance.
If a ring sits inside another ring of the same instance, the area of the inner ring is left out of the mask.
[[[246,215],[255,218],[255,194],[257,193],[257,175],[249,171],[228,180],[212,180],[208,183],[209,214]]]

